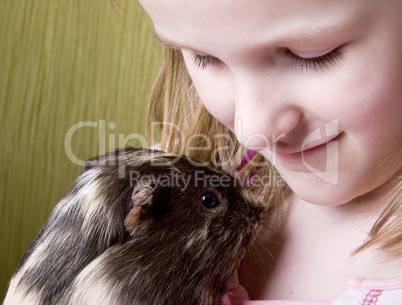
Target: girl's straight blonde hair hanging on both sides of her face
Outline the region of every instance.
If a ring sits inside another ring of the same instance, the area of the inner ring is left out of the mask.
[[[152,124],[160,126],[160,137],[151,134]],[[148,138],[161,143],[162,150],[182,153],[221,166],[240,178],[270,177],[270,183],[254,186],[270,206],[270,219],[279,225],[285,216],[283,197],[290,190],[275,168],[260,154],[256,154],[239,171],[239,164],[247,157],[234,134],[213,118],[201,103],[187,73],[179,50],[166,48],[165,61],[154,83],[148,106]],[[402,254],[402,171],[388,182],[395,186],[389,192],[389,201],[373,226],[368,239],[354,253],[369,247],[392,250]],[[277,220],[277,221],[275,221]],[[393,221],[392,221],[393,220]],[[272,227],[272,224],[271,226]],[[399,247],[398,247],[399,246]]]

